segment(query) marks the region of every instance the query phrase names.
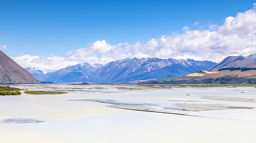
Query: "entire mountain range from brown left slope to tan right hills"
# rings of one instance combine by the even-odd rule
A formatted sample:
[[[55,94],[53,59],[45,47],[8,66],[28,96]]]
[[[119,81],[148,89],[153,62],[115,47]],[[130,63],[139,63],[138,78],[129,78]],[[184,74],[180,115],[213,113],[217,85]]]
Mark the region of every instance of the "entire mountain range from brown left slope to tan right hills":
[[[35,79],[35,77],[37,79]],[[164,79],[162,79],[164,78]],[[159,79],[159,80],[150,80]],[[256,83],[256,54],[229,56],[221,63],[173,58],[127,58],[82,63],[60,70],[23,69],[0,51],[0,83]]]

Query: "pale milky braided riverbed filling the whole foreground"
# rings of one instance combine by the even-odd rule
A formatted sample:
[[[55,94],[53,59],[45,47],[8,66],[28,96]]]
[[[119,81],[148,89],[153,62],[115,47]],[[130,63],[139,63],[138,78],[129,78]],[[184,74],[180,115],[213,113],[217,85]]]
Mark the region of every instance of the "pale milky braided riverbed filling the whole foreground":
[[[256,88],[11,86],[68,94],[0,97],[0,142],[256,142]]]

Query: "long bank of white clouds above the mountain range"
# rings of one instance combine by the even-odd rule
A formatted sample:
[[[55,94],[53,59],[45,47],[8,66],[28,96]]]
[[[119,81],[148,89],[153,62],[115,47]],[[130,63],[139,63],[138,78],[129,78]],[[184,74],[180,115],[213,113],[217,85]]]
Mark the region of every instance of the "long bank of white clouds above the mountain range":
[[[219,62],[228,55],[249,55],[256,53],[256,3],[254,8],[236,17],[225,18],[224,24],[210,24],[207,30],[191,30],[183,27],[183,33],[162,35],[150,41],[119,43],[110,45],[105,39],[96,41],[87,48],[68,51],[64,56],[49,57],[17,55],[14,61],[23,67],[61,69],[78,63],[105,64],[124,58],[158,57]],[[194,23],[194,26],[199,25]],[[0,46],[4,48],[4,46]],[[5,47],[6,48],[6,47]]]

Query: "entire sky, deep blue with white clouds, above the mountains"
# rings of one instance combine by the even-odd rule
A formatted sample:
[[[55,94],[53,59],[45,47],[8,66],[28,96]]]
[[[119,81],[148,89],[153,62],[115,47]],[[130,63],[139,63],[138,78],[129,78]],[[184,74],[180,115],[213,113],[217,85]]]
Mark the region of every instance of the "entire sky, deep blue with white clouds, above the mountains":
[[[0,0],[0,20],[0,49],[22,67],[256,53],[252,0]]]

